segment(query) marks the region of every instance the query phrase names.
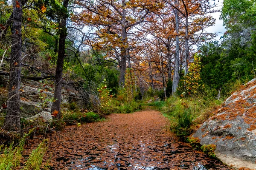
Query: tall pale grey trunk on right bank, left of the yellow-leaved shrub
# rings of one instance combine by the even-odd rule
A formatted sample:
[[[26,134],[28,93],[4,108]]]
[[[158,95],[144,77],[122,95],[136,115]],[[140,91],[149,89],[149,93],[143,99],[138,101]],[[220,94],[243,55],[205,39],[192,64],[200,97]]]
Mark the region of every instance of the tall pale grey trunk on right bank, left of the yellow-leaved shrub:
[[[178,6],[177,0],[175,0],[175,6]],[[175,66],[172,82],[172,95],[175,95],[177,87],[180,81],[179,65],[180,65],[180,42],[179,42],[179,15],[177,9],[173,9],[175,14],[175,26],[176,26],[176,50],[175,50]]]

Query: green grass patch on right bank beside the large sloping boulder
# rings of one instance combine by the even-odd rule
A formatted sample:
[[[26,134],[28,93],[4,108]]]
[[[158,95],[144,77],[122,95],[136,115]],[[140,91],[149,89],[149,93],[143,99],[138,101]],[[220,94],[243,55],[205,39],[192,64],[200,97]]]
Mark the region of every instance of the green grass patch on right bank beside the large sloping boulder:
[[[151,102],[169,118],[170,129],[181,140],[185,140],[195,129],[195,126],[205,122],[212,111],[224,101],[224,97],[217,99],[218,91],[206,88],[197,95],[180,97],[171,96],[166,101]]]

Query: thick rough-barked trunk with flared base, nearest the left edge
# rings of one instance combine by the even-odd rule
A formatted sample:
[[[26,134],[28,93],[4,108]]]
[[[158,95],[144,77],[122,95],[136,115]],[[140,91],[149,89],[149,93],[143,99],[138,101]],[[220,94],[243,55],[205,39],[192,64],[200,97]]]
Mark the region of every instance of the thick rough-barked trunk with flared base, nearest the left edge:
[[[3,129],[12,131],[20,129],[20,67],[21,67],[21,0],[12,0],[12,49],[10,62],[7,113]]]

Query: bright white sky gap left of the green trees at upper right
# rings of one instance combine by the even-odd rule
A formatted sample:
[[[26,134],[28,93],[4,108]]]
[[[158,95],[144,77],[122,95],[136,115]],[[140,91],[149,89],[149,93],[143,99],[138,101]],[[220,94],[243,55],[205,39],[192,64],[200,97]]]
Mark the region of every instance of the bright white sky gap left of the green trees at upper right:
[[[218,0],[217,9],[221,9],[222,5],[223,5],[223,0]],[[215,12],[215,13],[212,13],[211,15],[216,19],[216,23],[215,23],[215,26],[211,26],[207,28],[206,31],[209,33],[222,32],[222,34],[218,34],[218,36],[215,37],[215,40],[220,40],[220,37],[223,36],[223,33],[226,31],[226,29],[223,26],[223,21],[219,19],[221,13]]]

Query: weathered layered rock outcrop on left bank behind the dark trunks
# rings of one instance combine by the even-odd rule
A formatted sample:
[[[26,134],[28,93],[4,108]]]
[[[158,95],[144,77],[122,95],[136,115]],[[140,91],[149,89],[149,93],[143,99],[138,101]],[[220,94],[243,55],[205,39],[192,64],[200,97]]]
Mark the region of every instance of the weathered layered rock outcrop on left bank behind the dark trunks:
[[[0,76],[0,85],[6,86],[8,76]],[[77,87],[79,88],[79,87]],[[25,118],[34,116],[41,112],[50,112],[54,95],[54,81],[37,82],[33,80],[23,79],[20,86],[20,108],[22,116]],[[76,89],[74,86],[64,84],[61,90],[61,105],[63,109],[87,108],[90,105],[89,99],[93,96],[82,90]],[[0,105],[6,102],[7,90],[3,88],[0,94]],[[87,95],[87,96],[86,96]],[[72,108],[73,107],[73,108]]]

